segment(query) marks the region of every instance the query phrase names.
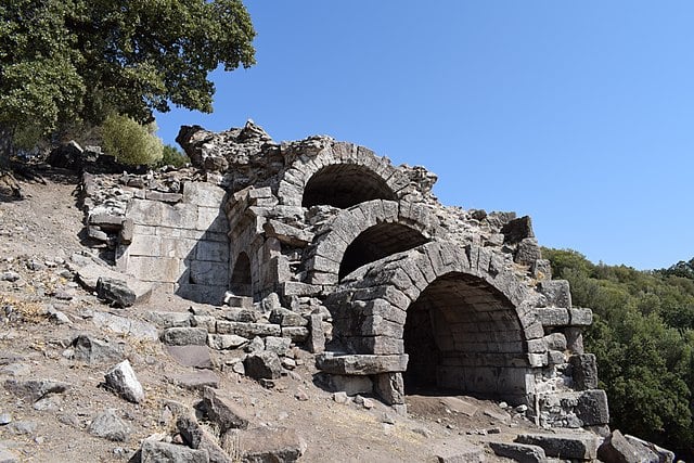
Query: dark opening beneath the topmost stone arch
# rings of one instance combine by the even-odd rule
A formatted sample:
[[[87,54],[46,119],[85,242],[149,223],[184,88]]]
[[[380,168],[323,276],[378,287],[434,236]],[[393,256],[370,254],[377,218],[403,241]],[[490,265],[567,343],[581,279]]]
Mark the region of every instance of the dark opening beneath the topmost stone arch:
[[[383,178],[367,167],[333,164],[317,171],[304,188],[301,206],[327,205],[346,209],[371,200],[395,200]]]

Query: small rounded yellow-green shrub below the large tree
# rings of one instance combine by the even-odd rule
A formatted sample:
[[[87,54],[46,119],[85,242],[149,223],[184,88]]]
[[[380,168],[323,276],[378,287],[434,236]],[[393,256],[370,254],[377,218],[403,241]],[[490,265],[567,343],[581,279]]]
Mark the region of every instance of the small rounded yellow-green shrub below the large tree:
[[[162,158],[164,150],[155,130],[154,123],[142,126],[130,117],[110,115],[102,126],[104,151],[123,164],[152,166]]]

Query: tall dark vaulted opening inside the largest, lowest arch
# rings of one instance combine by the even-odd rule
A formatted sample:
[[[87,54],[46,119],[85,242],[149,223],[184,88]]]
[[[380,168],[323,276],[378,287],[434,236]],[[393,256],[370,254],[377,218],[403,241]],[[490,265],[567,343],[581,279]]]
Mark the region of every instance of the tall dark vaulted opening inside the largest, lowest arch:
[[[524,333],[515,309],[476,276],[435,280],[409,308],[407,394],[457,390],[510,400],[525,394]]]

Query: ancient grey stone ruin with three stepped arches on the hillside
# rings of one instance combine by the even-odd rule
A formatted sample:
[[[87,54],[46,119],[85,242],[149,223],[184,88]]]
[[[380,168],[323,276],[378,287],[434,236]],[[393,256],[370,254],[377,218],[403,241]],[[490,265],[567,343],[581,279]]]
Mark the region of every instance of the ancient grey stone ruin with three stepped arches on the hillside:
[[[583,352],[592,312],[551,279],[530,218],[442,206],[426,169],[329,137],[275,143],[248,123],[178,141],[197,169],[86,176],[89,235],[160,291],[256,312],[210,336],[287,338],[326,387],[401,411],[427,390],[525,404],[544,426],[608,423]]]

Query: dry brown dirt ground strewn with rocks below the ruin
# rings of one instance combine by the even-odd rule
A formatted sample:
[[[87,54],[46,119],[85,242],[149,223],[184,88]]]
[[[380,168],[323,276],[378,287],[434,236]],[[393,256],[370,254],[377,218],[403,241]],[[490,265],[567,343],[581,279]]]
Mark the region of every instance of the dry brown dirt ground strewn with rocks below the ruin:
[[[46,171],[47,184],[23,183],[25,198],[0,197],[0,445],[26,462],[128,461],[140,441],[155,433],[170,433],[163,402],[192,406],[201,393],[176,385],[177,375],[195,373],[169,357],[159,342],[142,342],[99,329],[95,312],[114,312],[133,320],[150,310],[187,310],[189,301],[155,295],[146,305],[112,309],[74,281],[75,254],[93,253],[82,246],[83,216],[77,204],[77,177]],[[10,272],[10,273],[8,273]],[[200,305],[196,305],[200,306]],[[69,323],[56,322],[49,309]],[[144,386],[140,404],[123,400],[103,387],[113,364],[89,365],[70,358],[72,340],[88,334],[121,343],[125,357]],[[313,384],[312,356],[297,349],[298,363],[272,389],[224,369],[215,351],[219,389],[243,406],[254,426],[295,428],[307,443],[307,462],[426,462],[464,445],[484,446],[512,440],[534,429],[522,413],[499,403],[468,397],[412,395],[408,416],[377,400],[365,409],[354,401],[338,403]],[[50,378],[69,383],[40,407],[2,387],[7,381]],[[503,406],[503,404],[502,404]],[[93,436],[88,427],[105,409],[115,409],[130,427],[125,441]],[[2,416],[5,420],[2,420]],[[505,461],[486,450],[487,461]]]

